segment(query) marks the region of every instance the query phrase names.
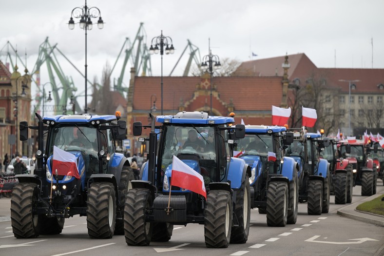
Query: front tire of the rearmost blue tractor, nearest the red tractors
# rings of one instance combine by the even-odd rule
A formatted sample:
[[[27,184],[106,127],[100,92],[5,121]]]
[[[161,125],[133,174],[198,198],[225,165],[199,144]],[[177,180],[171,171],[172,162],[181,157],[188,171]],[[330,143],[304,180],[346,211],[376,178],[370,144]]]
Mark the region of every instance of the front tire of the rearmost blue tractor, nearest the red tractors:
[[[323,182],[317,179],[308,180],[308,215],[321,215],[323,210],[323,195]]]

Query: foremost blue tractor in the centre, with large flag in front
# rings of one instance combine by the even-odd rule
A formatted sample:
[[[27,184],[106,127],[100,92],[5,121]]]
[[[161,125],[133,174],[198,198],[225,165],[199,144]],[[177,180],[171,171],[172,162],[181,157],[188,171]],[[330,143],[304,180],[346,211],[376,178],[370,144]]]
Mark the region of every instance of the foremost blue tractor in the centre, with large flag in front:
[[[140,136],[143,127],[151,133],[149,138],[139,138],[149,140],[148,161],[141,167],[141,180],[132,181],[125,201],[127,244],[168,241],[174,224],[187,223],[204,225],[207,247],[245,243],[250,229],[250,166],[231,155],[234,139],[245,136],[244,125],[234,128],[233,117],[205,112],[158,116],[160,126],[150,117],[151,125],[133,124],[134,136]],[[201,175],[206,198],[172,186],[173,156]]]

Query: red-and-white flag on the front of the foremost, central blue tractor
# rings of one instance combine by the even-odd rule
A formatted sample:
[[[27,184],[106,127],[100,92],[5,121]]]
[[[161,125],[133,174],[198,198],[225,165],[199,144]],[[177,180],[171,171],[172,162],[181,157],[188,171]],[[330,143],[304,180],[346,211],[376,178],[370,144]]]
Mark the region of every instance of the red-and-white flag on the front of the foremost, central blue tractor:
[[[191,190],[207,199],[204,179],[199,173],[173,155],[171,186]]]

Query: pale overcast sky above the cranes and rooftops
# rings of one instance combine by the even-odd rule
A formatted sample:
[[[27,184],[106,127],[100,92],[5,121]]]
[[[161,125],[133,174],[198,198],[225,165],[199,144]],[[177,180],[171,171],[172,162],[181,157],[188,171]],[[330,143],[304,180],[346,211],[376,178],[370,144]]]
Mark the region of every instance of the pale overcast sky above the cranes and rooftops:
[[[84,0],[0,0],[0,59],[9,41],[18,48],[31,71],[38,58],[38,47],[49,37],[80,71],[84,71],[85,34],[76,25],[68,29],[75,7]],[[220,59],[239,61],[265,59],[305,53],[317,67],[384,68],[383,0],[88,0],[96,6],[105,22],[104,29],[88,32],[88,77],[101,79],[108,62],[113,65],[126,38],[134,39],[140,22],[144,23],[147,45],[163,35],[173,39],[174,55],[164,55],[164,75],[168,75],[187,39],[200,50]],[[76,20],[78,21],[78,20]],[[96,20],[95,20],[96,22]],[[373,39],[373,47],[372,47]],[[372,55],[373,49],[373,55]],[[12,53],[13,54],[13,53]],[[189,51],[187,51],[189,55]],[[186,55],[188,58],[188,55]],[[122,55],[112,75],[121,71]],[[182,75],[187,59],[180,61],[173,75]],[[152,73],[160,76],[160,56],[151,56]],[[66,76],[83,87],[81,77],[63,58],[59,64]],[[19,65],[20,66],[20,65]],[[128,65],[129,67],[131,65]],[[124,83],[129,84],[129,67]],[[41,83],[49,81],[41,70]],[[34,93],[33,93],[34,95]]]

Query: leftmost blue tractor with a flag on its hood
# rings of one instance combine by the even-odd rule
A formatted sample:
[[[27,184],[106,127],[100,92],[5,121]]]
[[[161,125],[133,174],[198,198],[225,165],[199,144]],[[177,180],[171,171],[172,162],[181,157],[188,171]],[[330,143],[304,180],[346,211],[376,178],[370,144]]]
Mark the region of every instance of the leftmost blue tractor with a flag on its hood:
[[[118,112],[36,117],[37,126],[20,122],[20,140],[28,138],[28,129],[38,131],[38,150],[34,173],[17,175],[12,192],[15,237],[60,234],[65,218],[74,215],[87,217],[91,238],[123,235],[125,195],[134,174],[127,158],[115,152],[115,140],[125,138],[126,122]],[[67,164],[68,170],[77,162],[78,173],[53,170],[54,161]]]

